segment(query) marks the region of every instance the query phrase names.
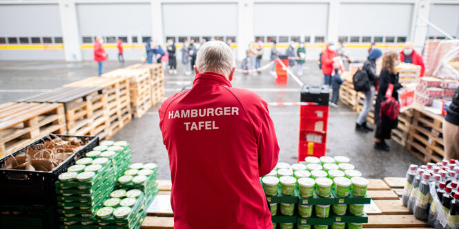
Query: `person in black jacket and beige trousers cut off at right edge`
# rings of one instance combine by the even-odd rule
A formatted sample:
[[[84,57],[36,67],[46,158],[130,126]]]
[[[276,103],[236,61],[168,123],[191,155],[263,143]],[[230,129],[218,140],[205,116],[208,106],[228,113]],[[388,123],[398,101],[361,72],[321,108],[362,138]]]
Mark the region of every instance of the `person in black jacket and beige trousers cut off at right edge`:
[[[459,159],[459,88],[447,110],[443,121],[443,139],[445,140],[445,160]]]

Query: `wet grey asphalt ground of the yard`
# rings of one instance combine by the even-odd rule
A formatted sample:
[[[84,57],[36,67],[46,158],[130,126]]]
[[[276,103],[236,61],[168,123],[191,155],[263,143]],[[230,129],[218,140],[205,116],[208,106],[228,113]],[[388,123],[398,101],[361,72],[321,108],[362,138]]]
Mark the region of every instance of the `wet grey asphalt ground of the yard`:
[[[108,61],[105,70],[114,70],[129,66],[136,62],[126,62],[124,65]],[[266,62],[267,63],[267,62]],[[266,63],[262,63],[266,64]],[[179,63],[177,75],[165,72],[166,97],[178,92],[184,86],[193,83],[194,76],[185,76]],[[296,66],[293,68],[296,74]],[[0,62],[0,103],[14,101],[39,92],[57,88],[65,83],[95,76],[97,64],[94,62]],[[304,74],[298,77],[302,82],[318,85],[323,81],[315,61],[306,63]],[[300,101],[300,86],[289,78],[286,86],[277,86],[274,77],[264,70],[262,74],[237,73],[233,86],[255,90],[268,103]],[[120,130],[114,140],[126,140],[131,145],[133,162],[155,162],[159,165],[159,179],[170,179],[168,155],[162,143],[159,130],[159,105],[151,108],[141,119],[133,119],[128,126]],[[277,139],[280,145],[280,161],[295,163],[297,161],[297,145],[300,125],[299,106],[269,106],[275,125]],[[358,113],[343,103],[338,108],[330,108],[329,126],[327,133],[327,155],[344,155],[351,159],[356,170],[364,177],[403,177],[409,164],[420,164],[421,161],[411,155],[395,141],[387,143],[390,152],[373,150],[373,133],[355,132],[355,119]]]

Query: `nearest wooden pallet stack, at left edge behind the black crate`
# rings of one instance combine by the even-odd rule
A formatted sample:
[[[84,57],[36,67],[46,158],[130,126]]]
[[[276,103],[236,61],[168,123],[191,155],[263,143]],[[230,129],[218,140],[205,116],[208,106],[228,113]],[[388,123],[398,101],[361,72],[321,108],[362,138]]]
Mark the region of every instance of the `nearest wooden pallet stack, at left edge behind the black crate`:
[[[0,105],[0,157],[50,133],[67,133],[61,103],[10,102]]]

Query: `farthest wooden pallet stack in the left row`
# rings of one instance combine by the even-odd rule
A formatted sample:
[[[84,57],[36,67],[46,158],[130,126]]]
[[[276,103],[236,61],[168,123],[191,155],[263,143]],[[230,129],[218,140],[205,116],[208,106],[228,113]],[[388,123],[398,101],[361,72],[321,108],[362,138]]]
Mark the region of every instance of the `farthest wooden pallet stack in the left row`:
[[[148,68],[151,75],[151,103],[153,106],[164,97],[164,70],[160,63],[137,63],[130,69]]]

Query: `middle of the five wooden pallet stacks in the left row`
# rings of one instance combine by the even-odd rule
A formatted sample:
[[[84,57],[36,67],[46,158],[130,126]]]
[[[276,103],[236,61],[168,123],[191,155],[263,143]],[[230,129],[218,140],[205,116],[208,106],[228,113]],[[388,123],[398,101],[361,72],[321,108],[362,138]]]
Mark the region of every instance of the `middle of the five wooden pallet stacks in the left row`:
[[[126,126],[132,119],[130,113],[130,94],[129,80],[126,77],[105,78],[90,77],[64,87],[84,87],[84,86],[104,87],[102,90],[107,95],[107,110],[109,117],[109,127],[107,138],[113,137],[121,128]]]

